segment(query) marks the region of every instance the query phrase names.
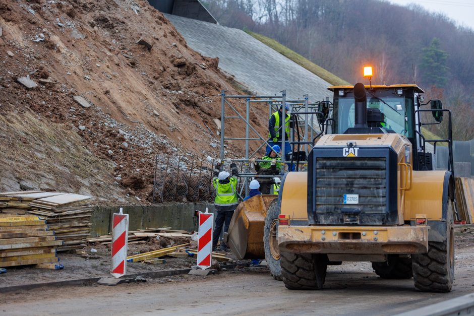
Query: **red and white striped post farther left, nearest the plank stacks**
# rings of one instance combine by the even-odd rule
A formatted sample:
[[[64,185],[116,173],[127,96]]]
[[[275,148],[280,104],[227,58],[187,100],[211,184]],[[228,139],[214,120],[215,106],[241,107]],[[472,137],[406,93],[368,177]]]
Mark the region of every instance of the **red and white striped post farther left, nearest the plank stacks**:
[[[112,271],[110,274],[120,278],[127,273],[127,245],[129,239],[129,215],[122,212],[112,215]]]

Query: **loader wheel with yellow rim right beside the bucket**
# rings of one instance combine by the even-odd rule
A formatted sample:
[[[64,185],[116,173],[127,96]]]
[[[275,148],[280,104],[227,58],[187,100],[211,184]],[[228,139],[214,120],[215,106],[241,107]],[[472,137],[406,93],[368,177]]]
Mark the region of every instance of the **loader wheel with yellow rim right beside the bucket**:
[[[278,207],[278,199],[273,200],[267,210],[265,217],[265,226],[263,228],[263,246],[265,249],[265,260],[271,275],[277,281],[281,281],[280,267],[280,250],[276,233],[278,231],[278,215],[280,208]]]

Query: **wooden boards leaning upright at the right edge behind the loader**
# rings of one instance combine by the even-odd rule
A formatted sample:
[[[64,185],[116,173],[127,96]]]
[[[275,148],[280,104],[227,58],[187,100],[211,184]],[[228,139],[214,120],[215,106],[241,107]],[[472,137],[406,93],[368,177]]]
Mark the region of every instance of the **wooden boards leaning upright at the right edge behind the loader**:
[[[458,220],[473,224],[474,218],[474,179],[455,178]]]

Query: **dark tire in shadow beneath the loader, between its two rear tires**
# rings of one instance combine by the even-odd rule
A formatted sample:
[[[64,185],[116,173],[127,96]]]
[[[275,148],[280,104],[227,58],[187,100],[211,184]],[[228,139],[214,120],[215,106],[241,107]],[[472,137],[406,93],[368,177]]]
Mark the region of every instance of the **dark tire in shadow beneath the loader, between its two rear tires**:
[[[409,279],[413,277],[411,258],[388,255],[385,262],[373,262],[372,269],[382,279]]]

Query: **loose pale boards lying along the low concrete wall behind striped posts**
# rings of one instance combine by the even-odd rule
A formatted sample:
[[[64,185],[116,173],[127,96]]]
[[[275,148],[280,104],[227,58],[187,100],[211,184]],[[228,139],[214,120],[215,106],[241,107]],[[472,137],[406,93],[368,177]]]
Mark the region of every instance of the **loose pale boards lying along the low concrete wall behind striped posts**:
[[[139,229],[134,231],[129,231],[129,244],[145,242],[148,237],[166,237],[166,238],[175,238],[175,237],[192,237],[193,235],[186,230],[175,230],[171,227],[162,227],[162,228],[147,228]],[[87,242],[100,242],[103,244],[112,242],[112,233],[108,235],[103,235],[95,238],[88,238]]]

